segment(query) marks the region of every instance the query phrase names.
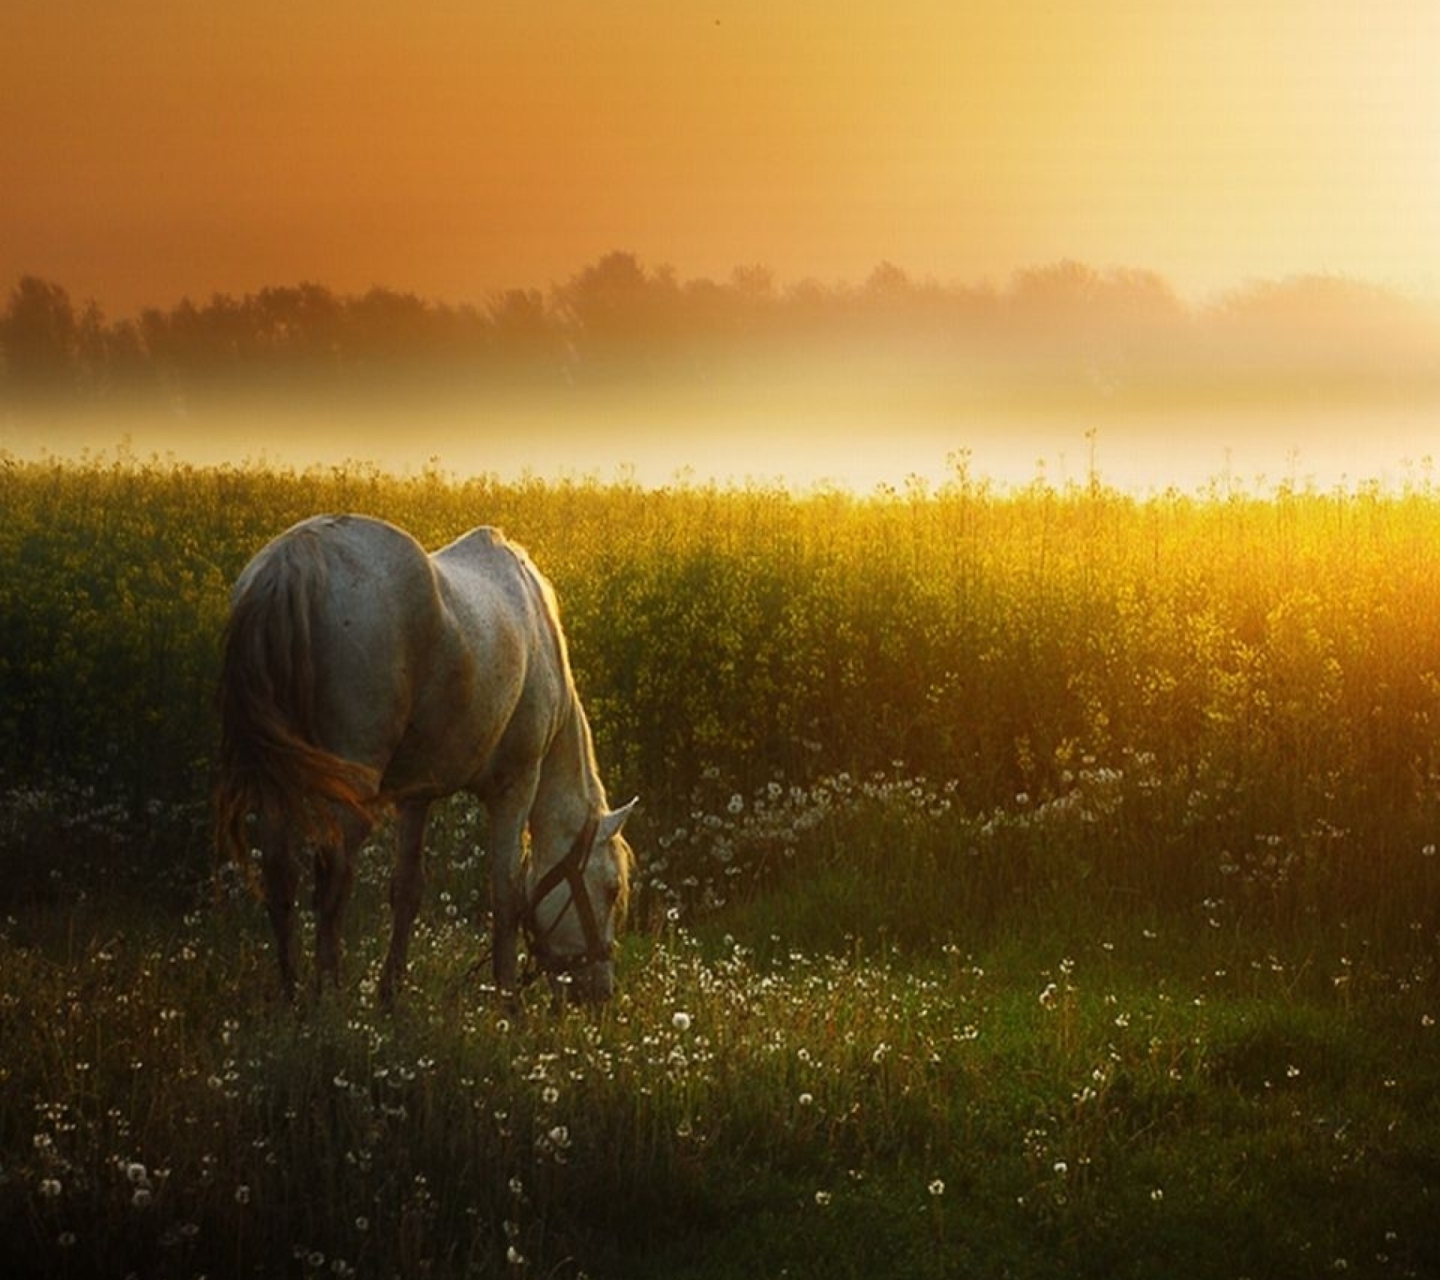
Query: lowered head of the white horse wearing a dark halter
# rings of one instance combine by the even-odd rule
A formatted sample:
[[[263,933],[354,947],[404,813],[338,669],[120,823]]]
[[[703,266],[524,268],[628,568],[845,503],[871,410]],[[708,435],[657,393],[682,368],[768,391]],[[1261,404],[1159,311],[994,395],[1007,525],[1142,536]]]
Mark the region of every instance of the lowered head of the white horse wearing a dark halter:
[[[634,857],[621,828],[635,803],[596,815],[563,857],[531,870],[530,950],[540,972],[573,999],[606,1001],[615,992],[615,933],[625,919]]]

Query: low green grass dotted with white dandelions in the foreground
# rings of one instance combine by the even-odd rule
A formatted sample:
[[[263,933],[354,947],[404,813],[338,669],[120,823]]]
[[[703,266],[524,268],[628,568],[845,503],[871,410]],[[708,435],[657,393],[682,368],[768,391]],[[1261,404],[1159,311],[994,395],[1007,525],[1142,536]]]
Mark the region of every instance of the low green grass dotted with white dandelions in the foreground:
[[[438,860],[415,983],[274,999],[258,907],[86,896],[0,936],[20,1273],[1320,1276],[1440,1266],[1433,949],[1089,890],[916,932],[933,849],[834,818],[600,1014],[482,992]],[[926,819],[939,844],[946,816]],[[950,834],[955,824],[952,822]],[[923,844],[923,842],[922,842]],[[851,874],[828,864],[840,849]],[[815,864],[811,878],[805,870]],[[744,900],[742,900],[744,898]],[[844,907],[828,936],[827,903]],[[448,909],[456,907],[454,913]],[[838,927],[838,926],[837,926]],[[144,1166],[140,1172],[138,1166]]]

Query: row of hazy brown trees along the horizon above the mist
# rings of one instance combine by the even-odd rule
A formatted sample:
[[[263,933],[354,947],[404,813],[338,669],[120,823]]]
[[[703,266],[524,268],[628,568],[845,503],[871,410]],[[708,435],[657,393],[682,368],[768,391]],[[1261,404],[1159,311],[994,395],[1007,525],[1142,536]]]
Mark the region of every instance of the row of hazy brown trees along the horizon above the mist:
[[[782,285],[763,266],[681,279],[613,252],[547,291],[451,305],[320,284],[189,298],[111,320],[22,276],[0,312],[0,399],[203,399],[408,377],[557,386],[707,380],[757,356],[876,359],[978,393],[1174,397],[1440,390],[1440,317],[1335,275],[1184,301],[1159,274],[1063,261],[1004,285],[940,284],[883,262],[860,285]]]

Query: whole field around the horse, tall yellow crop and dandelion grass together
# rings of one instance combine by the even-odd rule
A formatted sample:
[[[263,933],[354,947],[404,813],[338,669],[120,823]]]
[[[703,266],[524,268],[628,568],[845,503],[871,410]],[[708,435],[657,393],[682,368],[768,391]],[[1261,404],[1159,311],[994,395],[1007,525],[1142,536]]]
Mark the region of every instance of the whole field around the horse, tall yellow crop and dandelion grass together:
[[[226,595],[323,510],[503,526],[612,798],[621,995],[276,999],[209,837]],[[1440,1274],[1440,490],[955,459],[842,492],[0,458],[6,1276]]]

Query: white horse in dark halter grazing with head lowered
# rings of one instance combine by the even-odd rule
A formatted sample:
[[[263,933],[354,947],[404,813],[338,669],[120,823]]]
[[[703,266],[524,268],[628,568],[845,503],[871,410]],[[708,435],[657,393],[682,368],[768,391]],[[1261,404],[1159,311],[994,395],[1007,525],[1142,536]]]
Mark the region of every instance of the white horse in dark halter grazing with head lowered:
[[[426,816],[455,792],[490,818],[495,986],[518,991],[523,933],[536,969],[573,998],[613,993],[634,861],[621,832],[636,802],[606,802],[554,590],[503,533],[475,528],[428,554],[366,515],[285,530],[232,589],[217,704],[217,841],[242,867],[252,838],[259,849],[291,1001],[304,854],[320,991],[327,976],[340,983],[360,845],[395,811],[379,983],[390,1004],[420,904]]]

